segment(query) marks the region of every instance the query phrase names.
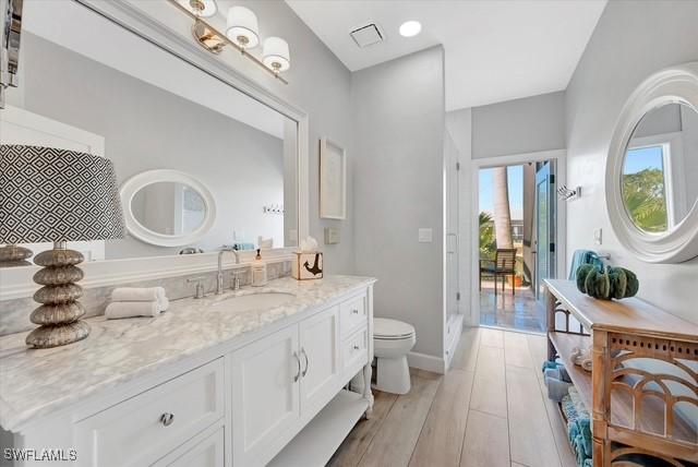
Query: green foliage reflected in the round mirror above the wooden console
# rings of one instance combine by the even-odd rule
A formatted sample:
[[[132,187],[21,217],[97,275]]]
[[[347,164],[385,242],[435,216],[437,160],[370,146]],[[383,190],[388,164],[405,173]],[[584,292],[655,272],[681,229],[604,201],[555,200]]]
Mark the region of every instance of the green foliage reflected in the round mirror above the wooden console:
[[[661,169],[624,175],[623,201],[638,228],[647,232],[666,231],[666,197]]]

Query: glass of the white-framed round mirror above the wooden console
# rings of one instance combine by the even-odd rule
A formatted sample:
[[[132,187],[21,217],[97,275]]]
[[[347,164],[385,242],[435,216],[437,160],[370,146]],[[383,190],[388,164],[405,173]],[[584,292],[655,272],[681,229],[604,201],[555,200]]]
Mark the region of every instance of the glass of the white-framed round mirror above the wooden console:
[[[622,192],[635,226],[672,231],[698,199],[698,112],[671,103],[647,112],[625,151]]]

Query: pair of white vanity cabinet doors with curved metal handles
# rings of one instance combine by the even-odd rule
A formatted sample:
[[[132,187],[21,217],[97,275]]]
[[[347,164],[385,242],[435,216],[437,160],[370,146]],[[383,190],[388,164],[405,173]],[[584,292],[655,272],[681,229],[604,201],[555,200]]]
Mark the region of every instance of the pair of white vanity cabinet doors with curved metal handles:
[[[296,434],[289,427],[333,399],[346,384],[340,354],[339,306],[233,352],[233,465],[266,465]]]

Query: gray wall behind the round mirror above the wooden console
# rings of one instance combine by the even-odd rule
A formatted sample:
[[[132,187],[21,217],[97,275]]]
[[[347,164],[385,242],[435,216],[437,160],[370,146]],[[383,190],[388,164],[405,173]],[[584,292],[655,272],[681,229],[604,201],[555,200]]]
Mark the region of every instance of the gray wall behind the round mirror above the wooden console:
[[[609,2],[565,95],[567,181],[583,188],[583,196],[567,206],[567,251],[609,251],[612,263],[638,274],[641,298],[693,322],[698,322],[698,259],[674,265],[635,259],[613,234],[603,180],[625,100],[655,71],[698,60],[697,24],[696,1]],[[593,244],[594,228],[603,229],[601,247]]]

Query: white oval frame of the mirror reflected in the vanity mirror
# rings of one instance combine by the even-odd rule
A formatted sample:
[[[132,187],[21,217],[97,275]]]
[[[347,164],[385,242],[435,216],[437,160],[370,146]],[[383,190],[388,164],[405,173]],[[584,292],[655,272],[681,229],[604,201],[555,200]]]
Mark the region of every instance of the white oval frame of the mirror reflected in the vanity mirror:
[[[135,196],[135,194],[145,187],[160,182],[184,184],[194,189],[204,200],[206,214],[204,216],[204,221],[196,230],[181,235],[160,234],[151,230],[135,218],[133,211],[131,209],[133,196]],[[216,221],[216,201],[214,200],[210,191],[208,191],[206,185],[195,178],[179,170],[158,169],[136,173],[121,185],[119,194],[121,195],[123,218],[127,221],[127,229],[129,229],[129,234],[146,243],[156,244],[158,247],[184,247],[192,244],[206,235]]]

